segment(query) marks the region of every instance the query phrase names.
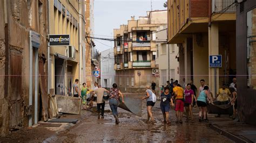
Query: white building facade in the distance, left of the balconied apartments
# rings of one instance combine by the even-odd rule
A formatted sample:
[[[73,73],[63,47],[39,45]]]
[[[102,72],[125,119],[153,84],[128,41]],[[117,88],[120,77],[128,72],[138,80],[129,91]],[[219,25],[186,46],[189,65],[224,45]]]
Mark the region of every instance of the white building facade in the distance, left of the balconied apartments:
[[[103,88],[112,88],[115,82],[116,70],[114,69],[114,49],[100,52],[100,85]]]

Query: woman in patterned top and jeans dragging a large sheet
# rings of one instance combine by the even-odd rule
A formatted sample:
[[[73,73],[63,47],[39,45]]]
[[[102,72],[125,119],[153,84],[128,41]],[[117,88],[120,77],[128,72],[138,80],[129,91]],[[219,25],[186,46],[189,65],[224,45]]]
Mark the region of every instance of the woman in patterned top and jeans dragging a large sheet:
[[[122,102],[124,103],[124,96],[120,90],[117,89],[117,84],[114,83],[112,85],[113,88],[110,90],[110,99],[109,105],[110,109],[113,113],[114,118],[116,119],[116,124],[119,124],[118,113],[117,113],[117,106],[119,102],[119,95],[122,97]]]

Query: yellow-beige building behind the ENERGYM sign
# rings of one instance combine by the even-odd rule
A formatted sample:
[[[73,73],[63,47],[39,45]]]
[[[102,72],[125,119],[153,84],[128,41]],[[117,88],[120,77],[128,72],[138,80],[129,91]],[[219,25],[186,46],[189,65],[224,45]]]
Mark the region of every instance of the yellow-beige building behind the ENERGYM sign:
[[[76,79],[79,85],[85,82],[84,6],[84,1],[49,1],[49,34],[70,35],[70,46],[49,47],[49,89],[55,89],[57,95],[73,93]]]

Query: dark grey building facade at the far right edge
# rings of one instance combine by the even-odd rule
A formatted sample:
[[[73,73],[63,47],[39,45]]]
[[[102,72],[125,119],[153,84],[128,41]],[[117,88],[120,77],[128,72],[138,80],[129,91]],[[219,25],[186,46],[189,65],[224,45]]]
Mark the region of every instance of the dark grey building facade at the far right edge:
[[[237,87],[241,121],[256,125],[256,1],[237,5]],[[246,76],[245,76],[246,75]]]

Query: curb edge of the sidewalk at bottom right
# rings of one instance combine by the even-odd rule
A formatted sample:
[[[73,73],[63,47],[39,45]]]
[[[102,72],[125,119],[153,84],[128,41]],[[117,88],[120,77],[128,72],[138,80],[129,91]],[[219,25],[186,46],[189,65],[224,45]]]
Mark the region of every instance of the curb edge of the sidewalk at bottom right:
[[[221,134],[221,135],[224,135],[225,137],[227,137],[228,139],[231,139],[231,140],[234,141],[234,142],[251,142],[251,141],[247,141],[247,140],[245,140],[245,139],[239,138],[237,135],[234,135],[234,134],[232,134],[232,133],[230,133],[230,132],[227,132],[227,131],[225,131],[225,130],[219,128],[219,127],[216,126],[216,125],[212,125],[211,123],[209,123],[208,126],[209,126],[210,128],[212,128],[212,130],[218,132],[218,133]]]

